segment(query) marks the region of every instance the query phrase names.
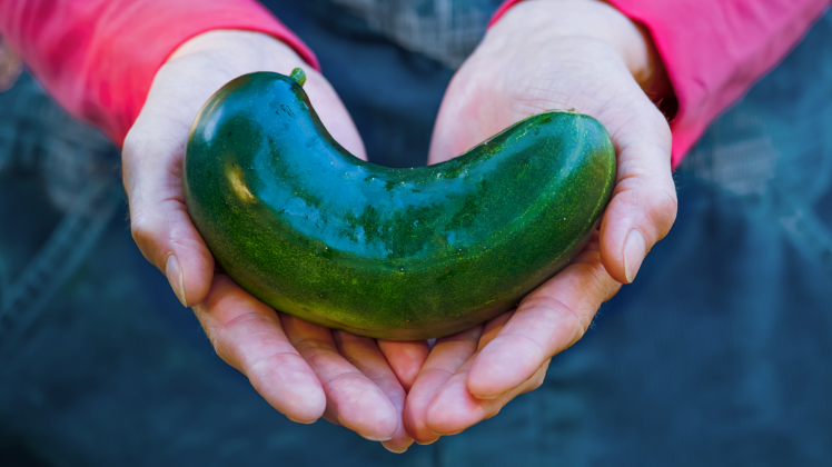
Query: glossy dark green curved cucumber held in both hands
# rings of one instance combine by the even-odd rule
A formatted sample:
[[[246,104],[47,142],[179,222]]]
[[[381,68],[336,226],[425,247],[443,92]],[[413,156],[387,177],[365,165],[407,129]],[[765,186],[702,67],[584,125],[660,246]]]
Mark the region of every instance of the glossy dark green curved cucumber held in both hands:
[[[616,159],[592,117],[532,116],[449,161],[390,169],[329,136],[283,74],[239,77],[190,131],[190,217],[245,290],[307,321],[442,337],[515,307],[583,249]]]

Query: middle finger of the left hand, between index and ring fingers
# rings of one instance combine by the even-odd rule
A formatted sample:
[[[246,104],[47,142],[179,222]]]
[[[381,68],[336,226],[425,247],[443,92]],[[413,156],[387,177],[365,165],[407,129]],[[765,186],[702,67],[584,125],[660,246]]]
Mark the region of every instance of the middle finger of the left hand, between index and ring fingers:
[[[326,394],[326,418],[367,439],[393,439],[399,425],[396,408],[379,386],[338,352],[333,332],[288,315],[279,316],[289,341],[318,376]],[[367,368],[377,371],[378,365],[368,364]]]

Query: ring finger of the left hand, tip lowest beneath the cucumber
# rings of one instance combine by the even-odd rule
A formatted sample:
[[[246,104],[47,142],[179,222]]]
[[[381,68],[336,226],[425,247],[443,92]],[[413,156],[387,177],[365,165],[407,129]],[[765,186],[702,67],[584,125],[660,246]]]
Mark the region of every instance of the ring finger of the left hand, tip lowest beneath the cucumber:
[[[375,382],[396,409],[398,428],[393,438],[382,441],[382,445],[394,453],[406,451],[413,444],[413,438],[405,431],[405,425],[402,421],[402,413],[405,408],[405,389],[387,365],[387,360],[375,339],[340,330],[333,331],[333,337],[340,355]]]

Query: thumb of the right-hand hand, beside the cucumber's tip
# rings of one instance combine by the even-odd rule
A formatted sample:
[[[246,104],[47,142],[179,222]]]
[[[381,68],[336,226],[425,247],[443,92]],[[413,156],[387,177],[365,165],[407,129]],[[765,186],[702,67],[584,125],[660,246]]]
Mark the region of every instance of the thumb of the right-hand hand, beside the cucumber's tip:
[[[676,188],[671,171],[671,136],[652,105],[638,106],[616,128],[617,185],[601,223],[601,255],[615,280],[635,279],[645,255],[676,219]]]

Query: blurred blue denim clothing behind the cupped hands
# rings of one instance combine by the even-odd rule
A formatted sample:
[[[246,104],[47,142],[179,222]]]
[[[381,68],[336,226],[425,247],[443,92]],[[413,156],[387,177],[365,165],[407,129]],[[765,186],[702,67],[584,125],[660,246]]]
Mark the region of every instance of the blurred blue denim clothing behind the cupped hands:
[[[424,163],[449,61],[309,4],[269,6],[370,158]],[[543,387],[396,456],[216,357],[130,238],[115,148],[23,77],[0,93],[0,465],[832,465],[831,90],[826,14],[711,125],[673,230]]]

